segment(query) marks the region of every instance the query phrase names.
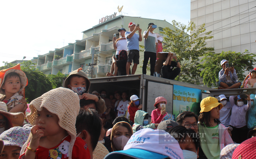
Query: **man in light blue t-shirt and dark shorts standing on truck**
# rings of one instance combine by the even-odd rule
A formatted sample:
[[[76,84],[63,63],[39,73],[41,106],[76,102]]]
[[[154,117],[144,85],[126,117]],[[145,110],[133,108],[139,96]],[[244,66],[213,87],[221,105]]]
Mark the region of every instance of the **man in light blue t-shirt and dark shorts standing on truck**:
[[[137,69],[137,65],[139,64],[139,42],[142,41],[141,29],[139,28],[139,24],[135,25],[134,22],[130,22],[129,31],[125,32],[125,37],[127,40],[127,63],[126,63],[126,74],[129,74],[130,65],[132,64],[132,60],[134,61],[134,65],[132,67],[132,74],[135,74]],[[139,31],[139,34],[135,33]]]

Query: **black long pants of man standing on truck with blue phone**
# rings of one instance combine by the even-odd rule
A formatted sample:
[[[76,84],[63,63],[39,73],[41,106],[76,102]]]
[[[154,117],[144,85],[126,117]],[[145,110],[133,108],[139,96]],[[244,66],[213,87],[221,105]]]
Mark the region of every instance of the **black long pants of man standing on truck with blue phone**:
[[[142,67],[142,73],[147,74],[148,59],[150,58],[150,76],[154,76],[155,65],[156,65],[156,53],[155,52],[144,52],[144,61]]]

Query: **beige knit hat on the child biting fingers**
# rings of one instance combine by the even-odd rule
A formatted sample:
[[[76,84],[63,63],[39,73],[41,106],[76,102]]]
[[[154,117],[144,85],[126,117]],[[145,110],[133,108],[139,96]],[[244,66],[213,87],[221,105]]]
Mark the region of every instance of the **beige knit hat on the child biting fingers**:
[[[76,116],[80,109],[79,97],[70,89],[59,87],[46,92],[41,97],[34,99],[29,108],[31,112],[27,115],[28,121],[33,125],[36,117],[37,110],[41,111],[46,108],[49,112],[56,114],[59,117],[59,126],[67,130],[71,136],[69,145],[69,159],[72,157],[72,148],[76,140]],[[27,142],[23,145],[21,154],[24,152],[26,146],[30,142],[30,136]]]

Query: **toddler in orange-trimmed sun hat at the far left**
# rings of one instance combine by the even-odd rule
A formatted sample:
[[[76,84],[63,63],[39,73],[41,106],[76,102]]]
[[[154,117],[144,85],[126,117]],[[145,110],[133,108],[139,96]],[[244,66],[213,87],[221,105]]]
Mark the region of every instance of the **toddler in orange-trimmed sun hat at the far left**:
[[[0,101],[6,103],[8,112],[25,112],[27,105],[21,102],[28,85],[26,74],[20,70],[20,64],[0,70]]]

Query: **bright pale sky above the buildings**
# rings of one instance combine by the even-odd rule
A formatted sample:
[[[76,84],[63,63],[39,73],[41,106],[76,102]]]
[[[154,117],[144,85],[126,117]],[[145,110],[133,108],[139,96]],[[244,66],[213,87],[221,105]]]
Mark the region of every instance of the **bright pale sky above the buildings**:
[[[82,31],[124,6],[125,16],[141,16],[188,24],[190,0],[5,0],[0,3],[2,61],[31,60],[82,40]]]

